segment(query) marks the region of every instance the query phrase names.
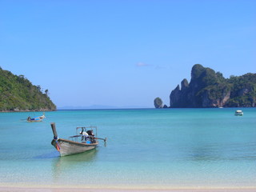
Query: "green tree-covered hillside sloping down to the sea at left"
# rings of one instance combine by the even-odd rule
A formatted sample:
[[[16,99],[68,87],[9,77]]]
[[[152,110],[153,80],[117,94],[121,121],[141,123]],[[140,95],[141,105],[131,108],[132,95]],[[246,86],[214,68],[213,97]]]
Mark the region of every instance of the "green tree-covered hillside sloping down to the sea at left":
[[[24,75],[14,75],[0,67],[0,111],[56,110],[40,86],[34,86]]]

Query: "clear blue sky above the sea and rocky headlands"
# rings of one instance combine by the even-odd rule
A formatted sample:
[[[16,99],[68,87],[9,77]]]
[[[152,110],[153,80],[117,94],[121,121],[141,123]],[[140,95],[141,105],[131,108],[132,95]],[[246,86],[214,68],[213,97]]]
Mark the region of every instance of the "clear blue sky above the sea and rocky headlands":
[[[58,106],[169,106],[196,63],[255,73],[255,0],[0,0],[0,66]]]

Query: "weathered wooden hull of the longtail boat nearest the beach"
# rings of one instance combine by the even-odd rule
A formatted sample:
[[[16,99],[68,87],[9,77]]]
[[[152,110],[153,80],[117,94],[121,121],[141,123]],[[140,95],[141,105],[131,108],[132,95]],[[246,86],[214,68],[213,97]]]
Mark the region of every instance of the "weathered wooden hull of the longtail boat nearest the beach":
[[[93,150],[98,146],[98,142],[86,143],[86,142],[73,142],[67,139],[58,138],[53,140],[51,144],[58,150],[60,156],[66,156],[69,154],[79,154],[86,150]]]

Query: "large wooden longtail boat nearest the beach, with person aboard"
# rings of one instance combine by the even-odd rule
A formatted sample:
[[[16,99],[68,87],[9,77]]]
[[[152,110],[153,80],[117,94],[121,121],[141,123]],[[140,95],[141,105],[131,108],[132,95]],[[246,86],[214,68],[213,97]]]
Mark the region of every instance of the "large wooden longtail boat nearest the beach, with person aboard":
[[[97,126],[77,127],[76,135],[70,136],[70,139],[58,138],[55,123],[51,123],[50,126],[54,133],[54,139],[51,145],[58,150],[60,156],[79,154],[86,150],[93,150],[98,146],[98,139],[106,142],[106,138],[97,138]]]

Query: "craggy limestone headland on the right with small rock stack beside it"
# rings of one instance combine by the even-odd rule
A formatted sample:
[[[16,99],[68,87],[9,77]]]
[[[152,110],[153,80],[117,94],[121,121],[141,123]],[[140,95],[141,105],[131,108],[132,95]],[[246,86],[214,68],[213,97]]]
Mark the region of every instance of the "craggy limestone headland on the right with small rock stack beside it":
[[[224,78],[220,72],[196,64],[191,79],[182,80],[170,93],[172,108],[254,107],[256,102],[256,74]],[[155,108],[167,108],[161,98],[154,99]]]

